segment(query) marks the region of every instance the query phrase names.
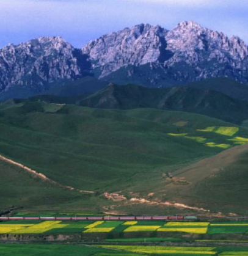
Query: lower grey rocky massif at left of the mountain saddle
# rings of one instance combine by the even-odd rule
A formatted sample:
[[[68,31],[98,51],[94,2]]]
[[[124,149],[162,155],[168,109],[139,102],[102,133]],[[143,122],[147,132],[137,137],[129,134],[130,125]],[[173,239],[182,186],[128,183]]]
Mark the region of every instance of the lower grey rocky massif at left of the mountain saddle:
[[[82,76],[77,50],[60,37],[42,37],[0,49],[0,90]]]

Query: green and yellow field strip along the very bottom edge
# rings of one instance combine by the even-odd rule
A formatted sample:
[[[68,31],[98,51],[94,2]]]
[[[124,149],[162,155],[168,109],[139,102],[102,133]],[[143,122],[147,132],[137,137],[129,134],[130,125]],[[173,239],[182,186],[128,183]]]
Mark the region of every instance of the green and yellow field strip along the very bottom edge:
[[[247,248],[172,246],[84,246],[77,244],[0,244],[1,256],[247,256]]]

